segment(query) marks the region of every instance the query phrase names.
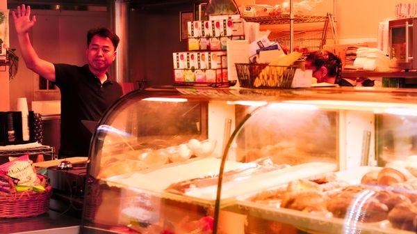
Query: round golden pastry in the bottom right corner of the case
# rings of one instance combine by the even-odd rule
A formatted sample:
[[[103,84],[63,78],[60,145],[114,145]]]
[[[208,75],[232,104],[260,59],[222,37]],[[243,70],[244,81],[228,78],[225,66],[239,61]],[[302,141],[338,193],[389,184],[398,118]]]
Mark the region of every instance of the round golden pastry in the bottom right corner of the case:
[[[395,228],[400,228],[407,231],[417,231],[416,219],[417,206],[409,202],[402,202],[395,205],[393,210],[388,214],[388,220]]]

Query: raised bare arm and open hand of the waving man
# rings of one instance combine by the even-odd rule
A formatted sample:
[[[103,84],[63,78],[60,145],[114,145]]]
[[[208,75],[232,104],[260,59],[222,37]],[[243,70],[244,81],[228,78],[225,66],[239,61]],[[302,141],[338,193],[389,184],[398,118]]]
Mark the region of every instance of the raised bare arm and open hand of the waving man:
[[[15,20],[15,28],[17,32],[17,38],[19,40],[20,49],[22,50],[22,57],[26,67],[38,73],[41,77],[48,79],[49,81],[55,81],[55,67],[54,64],[40,59],[33,49],[31,40],[29,39],[28,31],[33,27],[36,22],[36,17],[31,17],[31,7],[25,8],[22,4],[22,8],[17,6],[17,13],[12,12],[13,20]]]

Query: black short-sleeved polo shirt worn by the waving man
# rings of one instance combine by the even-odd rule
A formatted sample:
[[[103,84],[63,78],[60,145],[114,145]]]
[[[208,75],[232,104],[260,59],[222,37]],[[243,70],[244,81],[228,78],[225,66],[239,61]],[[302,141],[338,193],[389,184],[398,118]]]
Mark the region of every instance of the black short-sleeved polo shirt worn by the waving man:
[[[88,65],[54,64],[61,93],[59,157],[87,156],[92,134],[81,120],[98,121],[122,96],[122,87],[107,79],[101,84]],[[110,76],[107,74],[107,77]]]

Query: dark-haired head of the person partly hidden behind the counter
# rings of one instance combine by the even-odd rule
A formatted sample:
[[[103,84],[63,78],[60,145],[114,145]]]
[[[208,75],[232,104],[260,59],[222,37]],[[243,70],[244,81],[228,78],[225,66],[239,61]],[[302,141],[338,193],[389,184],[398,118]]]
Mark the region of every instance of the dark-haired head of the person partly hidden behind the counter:
[[[306,57],[305,67],[313,70],[313,77],[317,78],[318,82],[330,81],[337,84],[341,79],[342,62],[332,52],[312,52]]]

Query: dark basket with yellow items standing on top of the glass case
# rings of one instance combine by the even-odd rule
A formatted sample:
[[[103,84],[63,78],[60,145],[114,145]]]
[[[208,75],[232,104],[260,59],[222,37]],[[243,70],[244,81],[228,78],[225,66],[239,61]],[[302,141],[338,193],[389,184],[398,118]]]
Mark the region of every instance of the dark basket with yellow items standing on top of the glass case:
[[[241,87],[291,88],[296,66],[236,63]]]

